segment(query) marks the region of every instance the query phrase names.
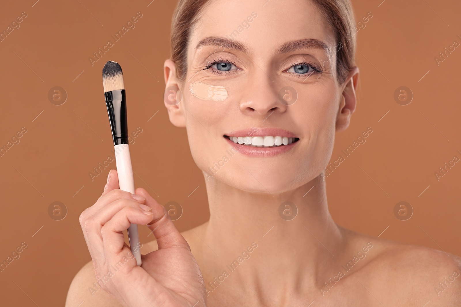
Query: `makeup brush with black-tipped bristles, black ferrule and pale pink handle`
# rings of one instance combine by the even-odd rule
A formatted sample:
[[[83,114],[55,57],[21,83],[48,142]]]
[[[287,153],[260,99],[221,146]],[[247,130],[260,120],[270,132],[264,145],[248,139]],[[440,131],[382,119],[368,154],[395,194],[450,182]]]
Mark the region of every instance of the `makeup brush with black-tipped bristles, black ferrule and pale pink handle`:
[[[107,112],[111,123],[114,141],[115,162],[117,164],[118,185],[120,190],[135,193],[133,169],[131,168],[130,149],[128,148],[128,124],[126,116],[125,87],[122,68],[117,62],[107,61],[102,69],[102,84],[106,97]],[[128,228],[130,249],[135,255],[137,265],[141,265],[138,226],[131,224]]]

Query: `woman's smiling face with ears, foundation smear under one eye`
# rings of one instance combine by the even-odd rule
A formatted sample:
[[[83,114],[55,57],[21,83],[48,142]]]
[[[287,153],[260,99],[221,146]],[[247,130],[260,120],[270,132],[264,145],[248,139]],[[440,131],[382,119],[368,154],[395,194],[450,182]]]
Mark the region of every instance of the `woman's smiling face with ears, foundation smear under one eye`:
[[[323,172],[335,129],[347,127],[354,111],[356,82],[349,76],[338,83],[333,29],[316,6],[263,2],[204,7],[189,38],[184,81],[165,61],[166,87],[183,94],[181,103],[165,105],[171,122],[187,128],[207,181],[274,193]]]

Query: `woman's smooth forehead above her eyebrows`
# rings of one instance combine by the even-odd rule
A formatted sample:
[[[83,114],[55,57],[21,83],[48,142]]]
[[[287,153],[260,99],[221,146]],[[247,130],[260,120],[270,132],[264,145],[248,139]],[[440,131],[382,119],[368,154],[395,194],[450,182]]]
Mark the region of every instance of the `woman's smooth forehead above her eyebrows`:
[[[276,52],[287,41],[314,39],[336,49],[333,29],[310,0],[210,0],[191,33],[189,51],[209,36],[242,42],[249,52]]]

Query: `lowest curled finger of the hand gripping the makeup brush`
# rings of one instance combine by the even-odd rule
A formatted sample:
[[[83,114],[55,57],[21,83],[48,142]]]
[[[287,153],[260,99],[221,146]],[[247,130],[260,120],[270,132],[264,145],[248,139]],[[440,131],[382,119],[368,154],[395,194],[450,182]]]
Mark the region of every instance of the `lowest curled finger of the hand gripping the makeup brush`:
[[[128,229],[132,224],[147,224],[152,220],[152,212],[136,209],[133,207],[124,207],[118,211],[101,228],[102,243],[104,254],[108,261],[118,259],[120,252],[124,248],[125,238],[123,231]],[[134,261],[136,265],[136,261]]]

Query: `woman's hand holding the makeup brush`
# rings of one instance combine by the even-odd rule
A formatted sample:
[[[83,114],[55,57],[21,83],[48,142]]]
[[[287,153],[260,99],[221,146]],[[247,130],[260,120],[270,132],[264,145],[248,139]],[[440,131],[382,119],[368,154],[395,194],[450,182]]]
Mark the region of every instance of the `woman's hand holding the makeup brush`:
[[[130,223],[148,224],[159,249],[142,255],[142,265],[124,242]],[[109,172],[98,201],[80,215],[98,284],[125,307],[206,306],[205,283],[189,244],[149,193],[118,189]]]

